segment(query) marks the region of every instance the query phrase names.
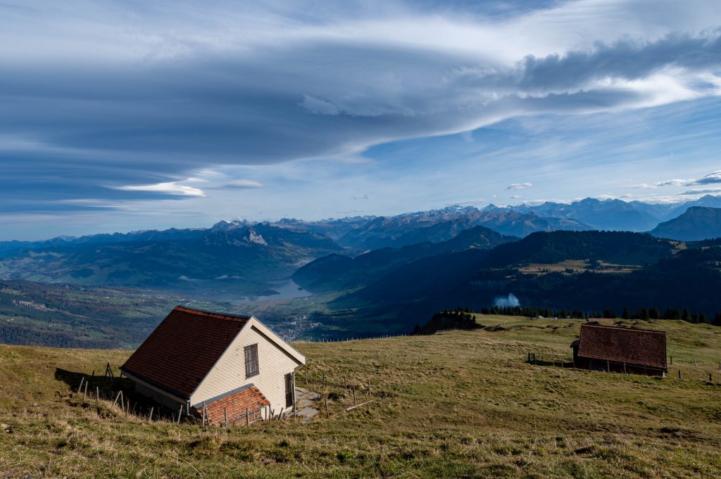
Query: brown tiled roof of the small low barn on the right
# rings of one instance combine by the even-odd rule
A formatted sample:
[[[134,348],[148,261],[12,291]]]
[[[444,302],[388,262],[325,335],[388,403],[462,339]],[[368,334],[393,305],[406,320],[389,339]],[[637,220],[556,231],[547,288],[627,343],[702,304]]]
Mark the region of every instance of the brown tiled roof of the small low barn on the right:
[[[666,333],[582,324],[578,356],[665,370]]]

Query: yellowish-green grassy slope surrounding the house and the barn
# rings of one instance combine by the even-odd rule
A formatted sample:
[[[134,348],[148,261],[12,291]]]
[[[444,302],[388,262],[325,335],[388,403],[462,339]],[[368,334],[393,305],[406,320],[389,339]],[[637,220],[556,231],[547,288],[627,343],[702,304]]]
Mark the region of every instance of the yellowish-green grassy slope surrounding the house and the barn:
[[[667,477],[721,474],[721,328],[634,322],[669,333],[671,377],[525,364],[566,354],[580,321],[506,321],[375,341],[297,344],[301,382],[325,372],[331,413],[371,380],[375,402],[314,424],[229,432],[150,424],[73,397],[56,367],[120,364],[128,352],[0,346],[0,477]],[[694,367],[694,358],[698,365]],[[684,380],[677,380],[681,367]],[[714,382],[707,382],[714,372]],[[57,391],[57,393],[56,393]],[[60,396],[60,397],[59,397]]]

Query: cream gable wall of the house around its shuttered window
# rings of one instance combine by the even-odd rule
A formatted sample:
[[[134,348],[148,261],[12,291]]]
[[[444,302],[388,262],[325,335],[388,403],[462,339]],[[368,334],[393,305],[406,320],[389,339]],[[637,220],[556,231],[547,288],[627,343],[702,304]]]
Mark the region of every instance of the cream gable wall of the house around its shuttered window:
[[[260,374],[245,377],[244,347],[258,345],[258,370]],[[231,343],[226,353],[213,367],[205,380],[190,398],[192,405],[215,398],[229,390],[252,384],[270,401],[275,413],[286,408],[286,374],[293,372],[298,362],[279,345],[270,341],[253,323],[249,323]]]

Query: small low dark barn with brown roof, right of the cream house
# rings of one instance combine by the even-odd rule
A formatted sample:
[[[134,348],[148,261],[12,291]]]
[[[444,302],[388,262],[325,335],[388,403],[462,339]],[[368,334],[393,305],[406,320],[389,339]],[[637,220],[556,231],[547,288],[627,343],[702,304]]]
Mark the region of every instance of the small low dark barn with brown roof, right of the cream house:
[[[668,372],[665,331],[582,324],[571,347],[575,367],[664,377]]]

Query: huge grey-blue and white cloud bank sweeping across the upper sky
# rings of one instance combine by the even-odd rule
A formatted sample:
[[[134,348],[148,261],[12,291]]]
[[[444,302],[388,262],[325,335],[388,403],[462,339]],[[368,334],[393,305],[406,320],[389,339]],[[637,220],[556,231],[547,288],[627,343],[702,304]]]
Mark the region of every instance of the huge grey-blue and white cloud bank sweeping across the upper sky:
[[[223,184],[203,169],[721,92],[715,1],[511,1],[502,17],[467,2],[25,3],[0,4],[0,205],[17,214],[190,202]]]

